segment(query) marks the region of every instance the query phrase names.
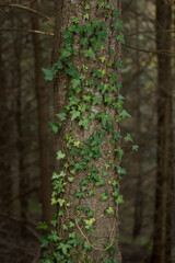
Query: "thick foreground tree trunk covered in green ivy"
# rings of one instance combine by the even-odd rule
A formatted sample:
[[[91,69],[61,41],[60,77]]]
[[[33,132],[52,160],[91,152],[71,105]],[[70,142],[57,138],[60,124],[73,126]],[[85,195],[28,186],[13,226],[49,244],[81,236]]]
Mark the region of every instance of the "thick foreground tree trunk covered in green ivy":
[[[62,261],[57,258],[58,262],[121,261],[118,248],[121,170],[115,153],[120,132],[115,117],[120,119],[122,100],[118,92],[120,70],[115,67],[120,59],[120,43],[116,41],[119,28],[114,25],[120,14],[116,9],[120,12],[119,0],[102,4],[94,0],[81,3],[56,0],[54,67],[63,67],[55,79],[55,113],[61,113],[55,123],[61,129],[56,136],[51,198],[59,206],[61,241],[57,250]],[[70,258],[61,251],[63,247]]]

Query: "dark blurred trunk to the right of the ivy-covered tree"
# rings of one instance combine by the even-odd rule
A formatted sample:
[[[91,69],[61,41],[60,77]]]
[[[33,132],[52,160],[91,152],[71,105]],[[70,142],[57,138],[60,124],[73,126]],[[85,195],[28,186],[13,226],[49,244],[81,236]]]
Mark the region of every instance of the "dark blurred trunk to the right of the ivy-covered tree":
[[[156,47],[171,50],[171,7],[156,0]],[[171,263],[172,82],[171,57],[158,55],[158,173],[152,263]]]

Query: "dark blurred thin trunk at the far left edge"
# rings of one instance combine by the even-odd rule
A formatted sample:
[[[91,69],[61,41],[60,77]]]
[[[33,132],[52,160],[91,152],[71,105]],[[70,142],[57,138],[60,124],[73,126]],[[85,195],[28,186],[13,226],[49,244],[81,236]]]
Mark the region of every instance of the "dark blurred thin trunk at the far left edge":
[[[4,57],[2,55],[3,35],[0,37],[0,207],[2,211],[11,214],[12,209],[12,180],[11,180],[11,129],[9,90],[4,71]]]

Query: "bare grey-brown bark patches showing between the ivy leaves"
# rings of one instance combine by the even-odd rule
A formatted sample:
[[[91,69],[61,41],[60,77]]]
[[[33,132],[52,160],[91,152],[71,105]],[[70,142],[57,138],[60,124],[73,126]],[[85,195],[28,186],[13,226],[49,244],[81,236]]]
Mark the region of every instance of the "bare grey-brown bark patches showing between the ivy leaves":
[[[113,9],[118,9],[120,10],[119,7],[119,1],[108,1],[112,3]],[[120,58],[120,45],[118,42],[116,42],[115,34],[112,31],[109,20],[104,18],[104,14],[97,9],[97,1],[90,0],[88,1],[90,4],[91,9],[89,11],[91,20],[96,19],[105,24],[107,24],[108,30],[108,37],[106,41],[106,48],[107,50],[114,48],[116,52],[116,59]],[[106,1],[107,3],[107,1]],[[55,31],[55,61],[58,58],[58,49],[60,48],[61,42],[62,42],[62,33],[63,30],[66,30],[69,25],[71,20],[75,16],[79,18],[80,24],[84,24],[83,20],[83,13],[84,9],[80,4],[80,1],[78,0],[56,0],[56,31]],[[89,21],[86,21],[88,23]],[[82,65],[88,66],[89,71],[92,72],[93,68],[104,68],[104,66],[101,64],[98,59],[93,61],[92,59],[85,58],[83,54],[81,53],[81,46],[79,43],[79,37],[75,36],[75,49],[78,50],[78,56],[73,58],[73,62],[77,67],[81,68]],[[103,52],[97,52],[97,56],[103,56],[105,55],[106,60],[108,60],[108,53],[106,52],[103,54]],[[106,71],[108,69],[106,68]],[[119,72],[118,72],[119,75]],[[107,76],[107,73],[106,73]],[[89,76],[91,78],[91,76]],[[107,77],[106,82],[107,82]],[[65,75],[65,72],[59,72],[58,78],[55,80],[55,113],[60,113],[63,111],[63,106],[68,104],[68,98],[67,98],[67,89],[65,87],[70,88],[69,83],[70,79],[68,76]],[[86,92],[90,91],[90,88],[86,87]],[[93,90],[92,90],[93,89]],[[91,92],[93,92],[95,95],[100,96],[100,92],[96,91],[96,88],[93,87],[91,88]],[[104,103],[101,105],[94,105],[92,106],[92,110],[97,114],[100,112],[106,112],[112,114],[113,117],[115,117],[116,112],[112,107],[107,107]],[[69,156],[69,150],[67,149],[67,141],[65,140],[65,135],[70,134],[70,128],[72,129],[72,136],[75,141],[80,140],[81,142],[85,141],[91,135],[94,135],[97,133],[97,130],[101,127],[100,122],[94,119],[91,122],[89,130],[84,130],[82,127],[78,125],[78,122],[73,121],[71,122],[70,118],[68,118],[65,124],[61,127],[61,132],[59,132],[59,135],[56,138],[56,151],[61,150],[67,153],[67,161],[69,162],[71,157]],[[118,124],[115,124],[115,130],[119,132]],[[105,170],[104,164],[108,163],[108,155],[112,156],[112,160],[116,163],[117,160],[115,159],[115,153],[114,153],[114,146],[109,144],[108,140],[108,135],[106,135],[103,138],[103,144],[101,146],[101,153],[103,155],[102,158],[98,159],[97,162],[91,160],[90,162],[90,168],[93,167],[93,164],[96,165],[97,170],[100,171],[100,174],[102,174],[102,171]],[[78,160],[80,161],[79,157]],[[60,162],[56,162],[56,171],[59,172],[61,170],[61,164]],[[104,178],[105,180],[105,186],[101,187],[94,187],[94,183],[90,183],[88,185],[88,188],[94,190],[94,196],[89,196],[85,193],[85,198],[78,198],[74,197],[73,194],[80,190],[81,182],[83,179],[86,178],[88,174],[81,171],[77,171],[74,175],[74,182],[70,184],[67,182],[66,185],[66,192],[63,194],[63,198],[68,203],[71,204],[70,208],[68,209],[69,216],[65,216],[63,218],[59,218],[59,229],[58,233],[59,236],[63,237],[66,236],[65,232],[62,231],[62,224],[67,222],[70,220],[70,218],[74,218],[74,215],[77,213],[77,205],[81,205],[81,207],[90,207],[91,210],[94,211],[94,218],[95,218],[95,224],[94,224],[94,233],[85,233],[85,229],[83,228],[82,224],[80,222],[77,224],[75,226],[75,231],[81,235],[82,238],[84,238],[88,242],[91,243],[92,245],[92,252],[90,252],[91,260],[93,262],[102,262],[102,258],[106,256],[108,258],[106,250],[104,249],[104,244],[109,242],[109,239],[114,239],[114,247],[117,248],[117,251],[113,255],[113,258],[117,259],[118,262],[120,262],[120,252],[118,248],[118,207],[114,202],[114,198],[112,197],[112,185],[108,184],[108,180],[113,178],[117,178],[117,174],[114,173],[113,169],[108,169],[108,175]],[[69,173],[69,171],[68,171]],[[69,174],[67,174],[69,175]],[[109,198],[107,202],[101,202],[101,194],[107,190],[109,194]],[[115,215],[106,215],[105,210],[108,206],[114,207],[115,209]],[[85,214],[83,215],[85,218]],[[97,242],[95,242],[97,241]],[[82,248],[80,248],[80,251]],[[79,252],[80,252],[79,251]],[[75,255],[72,258],[74,262],[78,262],[78,259]]]

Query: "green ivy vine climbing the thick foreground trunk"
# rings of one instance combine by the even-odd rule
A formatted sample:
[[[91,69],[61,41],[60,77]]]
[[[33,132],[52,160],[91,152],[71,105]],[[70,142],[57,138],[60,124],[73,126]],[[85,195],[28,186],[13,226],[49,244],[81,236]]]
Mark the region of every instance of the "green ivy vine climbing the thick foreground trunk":
[[[95,233],[96,222],[94,210],[90,206],[83,206],[80,201],[95,197],[96,188],[101,187],[101,194],[96,198],[106,204],[105,216],[115,215],[115,206],[124,203],[119,193],[119,182],[126,173],[119,165],[124,156],[121,141],[130,142],[132,150],[138,150],[138,146],[132,145],[130,134],[121,136],[118,133],[119,123],[130,117],[124,108],[125,98],[120,94],[121,83],[117,76],[124,64],[116,59],[115,49],[108,50],[106,47],[107,24],[91,20],[90,4],[86,1],[81,4],[84,9],[82,21],[79,18],[72,19],[63,32],[57,62],[51,69],[43,68],[46,81],[52,81],[59,72],[69,79],[65,85],[68,103],[62,112],[56,114],[57,121],[49,122],[49,125],[55,134],[59,133],[68,121],[85,132],[89,132],[94,122],[98,128],[92,132],[88,139],[78,140],[70,126],[63,137],[66,149],[57,151],[56,160],[62,168],[59,172],[54,172],[51,178],[51,205],[56,206],[57,211],[49,225],[40,222],[38,227],[46,231],[49,229],[49,233],[42,237],[42,263],[92,262],[89,253],[93,250],[103,252],[101,263],[118,262],[114,258],[116,248],[113,226],[110,237],[103,248],[100,248],[98,240],[95,244],[92,243],[91,235]],[[125,43],[125,28],[119,12],[103,0],[97,1],[97,8],[110,21],[110,31],[115,32],[116,42]],[[78,61],[79,56],[84,57],[82,65]],[[103,158],[102,147],[106,139],[113,146],[114,152],[107,153],[107,162],[103,163],[104,168],[100,171],[96,163]],[[66,187],[73,185],[80,173],[79,188],[72,194],[78,201],[75,214],[72,215],[72,204],[65,193]],[[106,185],[112,191],[108,191]]]

